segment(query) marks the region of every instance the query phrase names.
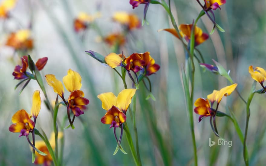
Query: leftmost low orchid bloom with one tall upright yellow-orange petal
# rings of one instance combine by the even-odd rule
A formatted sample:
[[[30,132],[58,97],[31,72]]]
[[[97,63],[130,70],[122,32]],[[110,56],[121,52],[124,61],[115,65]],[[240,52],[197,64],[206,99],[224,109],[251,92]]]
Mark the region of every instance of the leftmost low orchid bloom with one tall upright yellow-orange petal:
[[[32,107],[31,115],[27,113],[24,109],[18,110],[12,117],[12,124],[9,127],[11,132],[20,132],[19,137],[28,136],[30,132],[33,131],[36,123],[37,116],[41,110],[41,97],[40,91],[34,91],[32,97]],[[31,120],[34,118],[34,121]]]

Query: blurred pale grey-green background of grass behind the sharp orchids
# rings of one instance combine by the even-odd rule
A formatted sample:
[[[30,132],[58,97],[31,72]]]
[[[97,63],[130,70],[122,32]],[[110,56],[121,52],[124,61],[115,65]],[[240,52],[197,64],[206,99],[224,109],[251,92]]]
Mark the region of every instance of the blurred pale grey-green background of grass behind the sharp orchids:
[[[1,3],[2,1],[0,1]],[[216,22],[223,27],[225,33],[215,31],[209,39],[197,48],[203,54],[206,63],[213,64],[216,60],[228,71],[234,82],[238,83],[238,91],[247,99],[253,79],[248,73],[248,67],[253,65],[266,68],[266,1],[235,0],[214,11]],[[171,1],[171,9],[177,24],[192,24],[193,19],[201,11],[194,0]],[[24,91],[19,94],[22,86],[14,87],[12,72],[15,65],[20,64],[20,57],[30,54],[37,59],[48,57],[48,62],[41,74],[54,74],[62,80],[68,69],[75,70],[82,77],[82,88],[85,97],[89,99],[85,114],[76,118],[75,129],[64,130],[65,144],[64,165],[134,165],[125,136],[122,146],[128,155],[118,152],[113,156],[116,141],[109,125],[100,122],[105,114],[97,95],[104,92],[118,94],[123,87],[122,80],[108,66],[102,65],[85,51],[93,50],[104,56],[111,52],[126,56],[132,53],[149,51],[155,62],[161,66],[157,74],[149,78],[152,82],[152,92],[156,101],[145,100],[148,95],[143,84],[137,91],[136,123],[140,155],[143,165],[163,165],[167,158],[170,165],[192,165],[193,145],[183,93],[180,69],[185,60],[182,43],[171,34],[157,30],[171,28],[167,13],[160,5],[150,4],[146,19],[148,24],[133,30],[125,30],[125,25],[114,21],[112,15],[117,11],[136,14],[143,18],[144,5],[134,10],[129,0],[18,0],[14,8],[8,12],[8,17],[0,20],[0,165],[31,165],[31,151],[25,137],[18,139],[19,133],[11,133],[8,127],[12,124],[12,115],[25,109],[30,113],[32,94],[39,89],[36,81],[31,80]],[[89,14],[86,28],[75,30],[74,20],[80,12]],[[209,33],[212,22],[204,15],[197,24],[203,32]],[[7,40],[12,32],[30,30],[33,40],[32,48],[14,49],[7,46]],[[122,33],[125,41],[116,45],[107,40],[109,34]],[[206,71],[196,65],[194,101],[199,97],[207,97],[214,89],[218,90],[230,83],[219,75]],[[120,68],[120,67],[118,67]],[[120,71],[120,69],[118,69]],[[54,102],[56,94],[44,79],[48,97]],[[128,80],[128,86],[131,85]],[[257,85],[257,89],[260,88]],[[66,96],[68,96],[66,92]],[[44,100],[44,95],[41,93]],[[265,139],[265,101],[264,94],[255,94],[251,103],[247,146],[250,164],[262,165],[266,162]],[[37,129],[43,129],[47,136],[53,131],[52,117],[42,102],[42,108],[37,118]],[[219,111],[229,114],[233,110],[238,123],[244,132],[245,104],[233,92],[224,97]],[[66,115],[65,107],[60,107],[58,118],[63,121]],[[226,117],[217,118],[219,134],[228,141],[227,145],[208,146],[208,138],[217,142],[217,137],[209,125],[209,118],[198,123],[199,115],[194,113],[196,144],[199,165],[243,165],[243,146],[235,132],[233,123]],[[81,119],[80,119],[81,118]],[[129,120],[130,118],[128,118]],[[81,120],[85,122],[82,125]],[[131,135],[134,137],[132,123],[128,121]],[[63,126],[67,126],[67,123]],[[119,130],[119,129],[118,129]],[[159,134],[158,134],[159,133]],[[40,138],[37,136],[37,140]],[[135,143],[135,139],[133,138]]]

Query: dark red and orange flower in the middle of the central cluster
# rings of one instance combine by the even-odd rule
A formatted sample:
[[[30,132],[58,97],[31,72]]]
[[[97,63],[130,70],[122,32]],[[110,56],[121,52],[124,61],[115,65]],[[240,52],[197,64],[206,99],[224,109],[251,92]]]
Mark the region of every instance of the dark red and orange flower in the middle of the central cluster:
[[[125,58],[125,68],[128,71],[132,70],[136,73],[143,65],[145,65],[145,61],[142,60],[141,56],[139,56],[137,53],[133,53]]]

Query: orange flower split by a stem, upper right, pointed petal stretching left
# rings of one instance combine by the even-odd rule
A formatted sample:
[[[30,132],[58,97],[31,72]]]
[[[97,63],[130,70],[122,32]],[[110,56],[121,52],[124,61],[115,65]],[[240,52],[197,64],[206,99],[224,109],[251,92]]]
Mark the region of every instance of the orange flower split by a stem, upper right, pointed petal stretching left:
[[[181,37],[184,37],[185,40],[189,43],[190,42],[190,35],[191,35],[191,29],[192,29],[193,24],[181,24],[179,26],[179,30],[180,30],[180,35]],[[175,37],[177,37],[178,39],[179,36],[177,34],[177,31],[175,29],[162,29],[165,30],[171,34],[173,34]],[[159,30],[161,31],[161,30]],[[203,43],[204,41],[206,41],[209,38],[209,35],[206,33],[202,32],[202,29],[200,29],[199,27],[195,27],[195,47],[200,45],[201,43]]]

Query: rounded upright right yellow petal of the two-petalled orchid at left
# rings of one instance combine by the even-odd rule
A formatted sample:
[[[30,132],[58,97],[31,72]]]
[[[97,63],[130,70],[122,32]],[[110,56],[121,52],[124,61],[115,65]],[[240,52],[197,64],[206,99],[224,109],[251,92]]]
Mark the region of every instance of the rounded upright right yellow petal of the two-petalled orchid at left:
[[[67,75],[63,77],[63,83],[69,92],[79,90],[81,88],[81,76],[78,72],[71,69],[67,71]]]

